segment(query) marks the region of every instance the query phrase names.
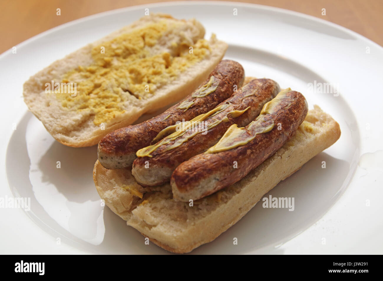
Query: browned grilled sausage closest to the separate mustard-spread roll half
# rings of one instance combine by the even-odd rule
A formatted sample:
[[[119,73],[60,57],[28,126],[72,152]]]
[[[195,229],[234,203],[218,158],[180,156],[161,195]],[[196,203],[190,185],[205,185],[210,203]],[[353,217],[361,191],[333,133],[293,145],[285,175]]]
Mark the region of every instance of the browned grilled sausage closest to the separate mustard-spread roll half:
[[[129,167],[136,151],[157,142],[167,135],[162,130],[177,121],[191,120],[208,112],[230,97],[244,81],[242,65],[233,60],[222,60],[205,83],[164,113],[137,125],[115,130],[98,143],[98,160],[107,169]],[[237,87],[235,87],[237,85]]]

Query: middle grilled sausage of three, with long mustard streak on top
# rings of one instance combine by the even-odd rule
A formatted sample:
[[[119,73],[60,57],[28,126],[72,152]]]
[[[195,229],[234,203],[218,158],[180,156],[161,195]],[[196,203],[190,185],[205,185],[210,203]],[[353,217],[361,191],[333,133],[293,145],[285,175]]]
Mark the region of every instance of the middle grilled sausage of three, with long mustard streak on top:
[[[250,81],[215,109],[173,126],[174,133],[137,151],[132,174],[141,185],[169,182],[179,164],[214,145],[232,124],[249,124],[279,90],[278,83],[270,79]]]

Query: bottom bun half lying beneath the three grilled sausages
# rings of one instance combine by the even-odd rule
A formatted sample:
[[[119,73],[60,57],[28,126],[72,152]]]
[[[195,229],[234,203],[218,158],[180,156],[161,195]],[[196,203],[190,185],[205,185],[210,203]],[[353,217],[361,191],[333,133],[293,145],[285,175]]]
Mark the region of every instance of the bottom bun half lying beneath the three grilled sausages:
[[[97,161],[93,180],[105,204],[129,226],[165,250],[187,253],[239,221],[265,193],[339,136],[339,124],[314,106],[295,135],[274,155],[239,182],[194,201],[193,207],[174,201],[170,184],[142,188],[129,168],[108,170]]]

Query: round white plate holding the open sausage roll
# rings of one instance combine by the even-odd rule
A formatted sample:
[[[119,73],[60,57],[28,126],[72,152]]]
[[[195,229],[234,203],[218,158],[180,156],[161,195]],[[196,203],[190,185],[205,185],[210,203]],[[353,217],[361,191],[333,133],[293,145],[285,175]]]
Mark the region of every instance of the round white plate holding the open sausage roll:
[[[29,76],[144,16],[144,8],[176,18],[195,17],[205,26],[206,37],[214,32],[228,42],[225,58],[242,63],[248,76],[272,78],[282,88],[300,91],[310,108],[321,106],[342,130],[335,145],[266,195],[294,197],[294,211],[257,204],[192,253],[382,253],[382,47],[300,13],[206,1],[89,16],[17,45],[16,54],[8,50],[0,56],[5,159],[0,197],[31,198],[30,211],[0,209],[1,253],[167,253],[144,245],[141,234],[101,207],[92,180],[96,147],[76,149],[56,142],[22,99]],[[314,81],[338,85],[340,94],[314,93],[308,86]],[[238,245],[233,245],[233,237]]]

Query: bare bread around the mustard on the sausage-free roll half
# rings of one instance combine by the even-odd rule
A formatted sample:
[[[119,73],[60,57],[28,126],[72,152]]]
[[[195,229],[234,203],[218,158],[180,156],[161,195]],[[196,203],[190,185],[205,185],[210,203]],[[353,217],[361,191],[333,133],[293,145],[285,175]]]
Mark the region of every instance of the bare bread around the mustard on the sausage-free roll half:
[[[96,47],[103,45],[105,42],[112,42],[114,39],[119,38],[119,36],[124,36],[124,34],[130,34],[142,28],[147,28],[150,24],[160,23],[165,23],[167,28],[158,41],[153,45],[149,39],[144,39],[143,50],[147,54],[159,56],[158,60],[162,63],[169,58],[167,54],[170,54],[171,61],[179,59],[180,54],[178,52],[181,52],[179,48],[183,48],[182,50],[185,53],[189,51],[189,46],[196,46],[198,44],[205,46],[207,44],[206,54],[203,53],[204,55],[201,60],[197,60],[191,63],[191,65],[186,65],[182,68],[182,71],[172,76],[171,81],[154,85],[155,90],[146,96],[137,96],[135,93],[131,93],[129,87],[132,85],[129,84],[123,87],[113,84],[106,85],[113,94],[118,93],[117,96],[113,96],[113,99],[117,99],[118,102],[121,99],[118,114],[113,115],[112,112],[108,115],[110,118],[105,119],[103,122],[98,122],[96,120],[97,110],[95,112],[93,108],[82,108],[81,102],[79,102],[80,107],[75,109],[67,108],[63,106],[63,102],[57,98],[56,94],[46,93],[46,83],[51,83],[51,81],[54,81],[54,83],[62,83],[63,81],[64,83],[76,83],[77,80],[65,80],[66,75],[73,70],[79,69],[80,71],[80,67],[81,69],[92,68],[96,63],[93,57]],[[214,35],[207,42],[201,41],[204,36],[205,29],[195,19],[178,20],[164,14],[144,16],[129,26],[121,28],[67,55],[61,60],[53,62],[48,67],[31,76],[23,87],[24,101],[29,110],[41,120],[47,131],[60,143],[73,147],[95,145],[107,133],[132,124],[142,114],[152,112],[167,104],[178,101],[193,92],[206,79],[215,65],[219,63],[228,47],[226,43],[218,41]],[[127,49],[129,48],[132,47],[128,46]],[[196,52],[197,47],[195,47]],[[165,55],[161,57],[161,54]],[[190,54],[190,56],[193,56],[193,54]],[[142,58],[142,60],[144,61],[145,58]],[[114,60],[110,63],[113,65]],[[87,71],[92,71],[88,70],[88,68]],[[107,66],[105,68],[108,69]],[[134,73],[134,71],[140,71],[140,69],[132,69],[131,71]],[[149,75],[149,78],[146,78],[150,80],[154,76]],[[77,82],[80,83],[81,81],[79,78]],[[97,81],[90,82],[94,83],[95,88],[97,87]],[[77,92],[79,93],[79,91]],[[101,92],[102,94],[104,93]],[[90,100],[93,98],[90,97]],[[114,100],[105,106],[106,109],[104,111],[108,113],[108,106],[110,104],[113,106],[113,103],[115,103]]]

